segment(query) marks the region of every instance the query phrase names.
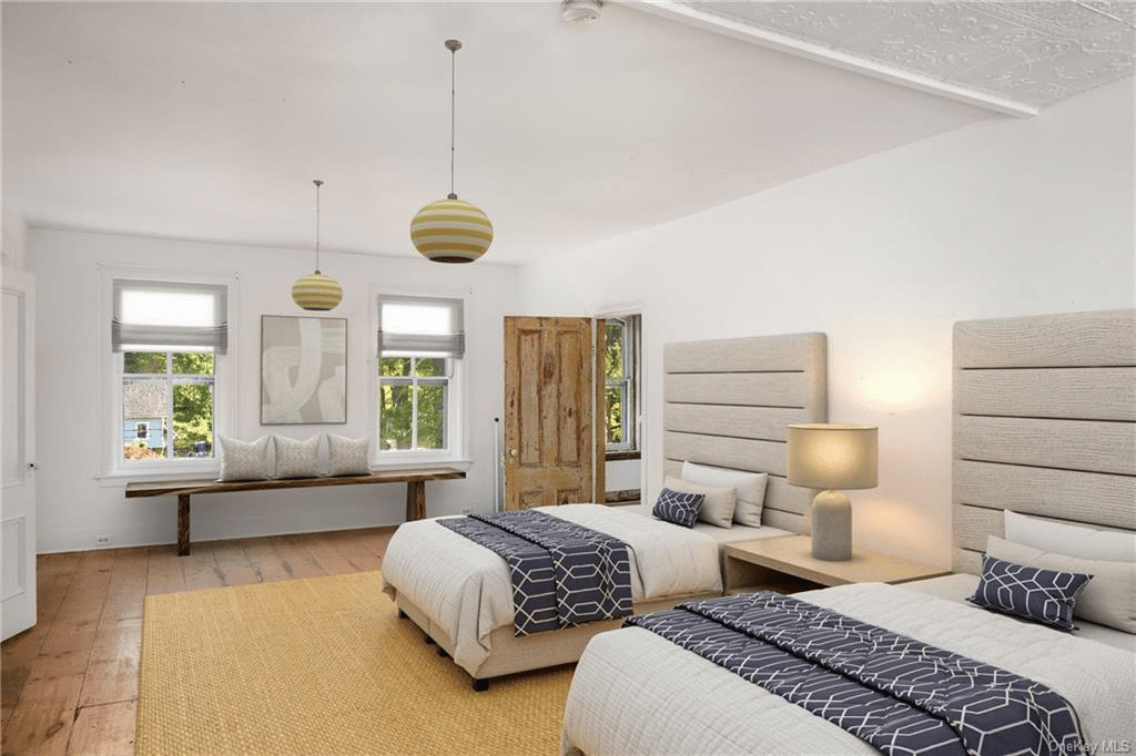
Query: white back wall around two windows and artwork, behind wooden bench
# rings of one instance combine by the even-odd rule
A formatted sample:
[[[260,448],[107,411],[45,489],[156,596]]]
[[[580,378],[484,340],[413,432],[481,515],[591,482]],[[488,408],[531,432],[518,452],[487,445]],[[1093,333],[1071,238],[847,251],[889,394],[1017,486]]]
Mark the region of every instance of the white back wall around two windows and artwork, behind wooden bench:
[[[265,432],[307,438],[320,431],[359,437],[371,430],[375,337],[371,287],[466,297],[468,419],[473,464],[465,480],[426,484],[427,514],[493,506],[493,419],[502,406],[501,318],[513,309],[513,268],[479,262],[438,266],[418,259],[321,252],[321,268],[344,288],[328,316],[348,318],[348,422],[260,425],[260,316],[304,314],[292,282],[310,271],[311,252],[33,228],[30,267],[37,275],[39,551],[174,543],[174,497],[124,498],[122,479],[102,479],[106,412],[100,346],[109,328],[100,310],[99,266],[130,264],[236,271],[237,311],[229,313],[237,370],[237,438]],[[344,486],[195,496],[194,540],[333,530],[403,520],[406,487]]]

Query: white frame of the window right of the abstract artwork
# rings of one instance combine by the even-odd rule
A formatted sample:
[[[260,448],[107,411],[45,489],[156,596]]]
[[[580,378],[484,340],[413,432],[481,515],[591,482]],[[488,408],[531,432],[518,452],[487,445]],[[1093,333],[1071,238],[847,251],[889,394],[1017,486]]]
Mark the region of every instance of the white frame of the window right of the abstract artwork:
[[[389,287],[371,286],[370,287],[370,306],[371,306],[371,339],[370,339],[370,380],[371,380],[371,402],[370,402],[370,428],[374,434],[375,443],[371,446],[371,460],[370,465],[373,469],[393,469],[393,468],[429,468],[429,467],[469,467],[469,459],[466,456],[466,450],[469,448],[468,438],[468,422],[466,419],[467,408],[468,408],[468,381],[466,380],[467,364],[466,360],[469,356],[468,350],[461,358],[448,358],[446,364],[449,367],[449,390],[446,392],[446,417],[445,417],[445,428],[446,428],[446,447],[440,450],[384,450],[382,448],[382,442],[379,438],[379,387],[381,379],[378,375],[379,359],[377,348],[377,334],[379,328],[379,308],[382,306],[383,297],[399,297],[399,299],[421,299],[421,300],[457,300],[461,302],[462,313],[468,310],[469,302],[466,297],[466,292],[446,292],[446,291],[406,291],[406,289],[392,289]],[[468,333],[468,329],[466,329]],[[398,354],[410,355],[409,352]],[[390,355],[394,356],[394,354]],[[426,354],[428,356],[428,354]],[[409,378],[409,377],[408,377]]]

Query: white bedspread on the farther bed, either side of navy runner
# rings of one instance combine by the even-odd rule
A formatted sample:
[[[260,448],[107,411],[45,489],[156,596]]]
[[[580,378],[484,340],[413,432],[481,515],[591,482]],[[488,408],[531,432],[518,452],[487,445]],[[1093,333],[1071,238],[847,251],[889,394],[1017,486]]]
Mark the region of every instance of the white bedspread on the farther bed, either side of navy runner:
[[[630,546],[632,597],[721,593],[718,544],[693,530],[601,504],[538,507],[615,536]],[[512,585],[504,560],[434,520],[407,522],[383,556],[383,590],[404,596],[454,640],[453,661],[476,670],[490,633],[512,624]]]

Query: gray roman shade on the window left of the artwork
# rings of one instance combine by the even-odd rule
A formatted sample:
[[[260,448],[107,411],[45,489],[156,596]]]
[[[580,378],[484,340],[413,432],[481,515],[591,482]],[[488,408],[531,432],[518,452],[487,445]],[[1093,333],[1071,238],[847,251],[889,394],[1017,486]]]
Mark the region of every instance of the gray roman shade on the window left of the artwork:
[[[115,352],[211,348],[228,352],[228,288],[115,279],[110,345]]]

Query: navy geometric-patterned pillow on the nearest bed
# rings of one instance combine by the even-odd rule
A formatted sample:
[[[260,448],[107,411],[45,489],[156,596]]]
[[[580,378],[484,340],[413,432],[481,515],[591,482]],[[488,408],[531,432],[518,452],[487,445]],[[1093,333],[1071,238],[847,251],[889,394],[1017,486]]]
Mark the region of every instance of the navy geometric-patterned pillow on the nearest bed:
[[[983,574],[969,600],[1068,632],[1077,629],[1072,607],[1092,579],[1091,574],[1043,570],[983,554]]]

